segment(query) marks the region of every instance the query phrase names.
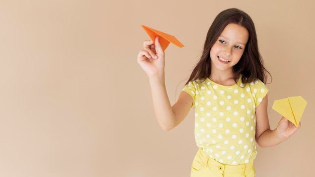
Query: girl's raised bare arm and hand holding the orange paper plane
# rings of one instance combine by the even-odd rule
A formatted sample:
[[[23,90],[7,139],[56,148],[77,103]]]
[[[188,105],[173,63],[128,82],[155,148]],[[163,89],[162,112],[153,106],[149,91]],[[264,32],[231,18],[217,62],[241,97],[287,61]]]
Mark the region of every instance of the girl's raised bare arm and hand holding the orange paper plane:
[[[149,77],[153,108],[157,122],[163,130],[171,130],[180,124],[191,108],[191,96],[182,92],[178,101],[172,107],[165,85],[165,53],[156,37],[155,41],[144,41],[143,49],[139,51],[137,61]]]

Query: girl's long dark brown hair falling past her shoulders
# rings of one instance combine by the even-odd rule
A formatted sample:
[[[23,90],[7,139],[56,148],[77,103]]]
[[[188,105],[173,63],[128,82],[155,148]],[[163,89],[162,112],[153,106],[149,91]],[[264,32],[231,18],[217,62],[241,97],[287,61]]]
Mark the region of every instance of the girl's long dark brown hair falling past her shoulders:
[[[257,35],[254,22],[251,17],[239,9],[227,9],[222,11],[214,19],[208,30],[206,41],[204,43],[201,58],[193,69],[188,81],[197,79],[206,79],[211,73],[210,50],[216,42],[226,25],[234,23],[246,28],[249,32],[249,39],[245,47],[244,53],[240,61],[233,66],[234,73],[242,74],[242,82],[250,83],[256,79],[260,79],[266,83],[267,75],[270,73],[263,65],[262,57],[258,50]]]

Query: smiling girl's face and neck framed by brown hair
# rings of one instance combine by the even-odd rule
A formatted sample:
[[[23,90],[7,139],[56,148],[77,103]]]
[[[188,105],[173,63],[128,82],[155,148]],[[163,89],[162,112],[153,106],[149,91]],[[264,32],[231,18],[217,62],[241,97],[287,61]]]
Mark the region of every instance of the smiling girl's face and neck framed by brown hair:
[[[210,50],[211,73],[216,71],[232,71],[245,50],[249,33],[246,28],[228,24]]]

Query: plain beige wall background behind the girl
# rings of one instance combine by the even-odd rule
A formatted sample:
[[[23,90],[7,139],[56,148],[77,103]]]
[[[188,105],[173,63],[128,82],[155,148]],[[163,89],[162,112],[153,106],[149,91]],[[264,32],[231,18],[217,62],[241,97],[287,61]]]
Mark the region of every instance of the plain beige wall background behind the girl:
[[[193,110],[164,132],[153,117],[148,79],[136,62],[148,36],[175,35],[166,50],[172,103],[222,10],[254,20],[274,100],[301,95],[302,127],[259,148],[257,176],[312,176],[313,1],[0,1],[0,176],[189,176],[197,147]]]

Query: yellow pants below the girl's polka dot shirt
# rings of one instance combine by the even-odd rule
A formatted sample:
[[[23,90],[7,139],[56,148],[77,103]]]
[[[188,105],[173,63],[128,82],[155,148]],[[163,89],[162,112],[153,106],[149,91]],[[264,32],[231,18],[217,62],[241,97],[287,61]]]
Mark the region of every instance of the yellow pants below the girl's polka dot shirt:
[[[191,177],[255,177],[253,161],[240,165],[225,165],[209,157],[199,148],[192,167]]]

